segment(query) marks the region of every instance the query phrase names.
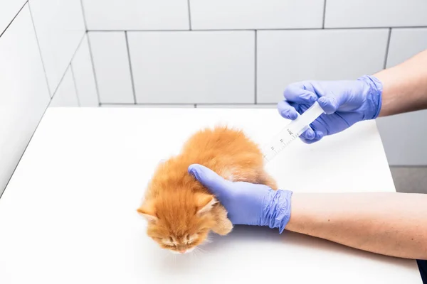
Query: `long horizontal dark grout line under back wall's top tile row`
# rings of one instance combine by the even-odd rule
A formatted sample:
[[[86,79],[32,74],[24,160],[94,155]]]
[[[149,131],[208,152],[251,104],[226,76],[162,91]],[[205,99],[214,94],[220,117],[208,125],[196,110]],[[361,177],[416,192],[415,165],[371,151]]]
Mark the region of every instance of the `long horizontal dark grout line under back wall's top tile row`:
[[[257,28],[257,31],[320,31],[320,30],[371,30],[371,29],[388,29],[388,28],[427,28],[427,26],[371,26],[371,27],[347,27],[347,28]],[[117,31],[138,31],[138,32],[185,32],[183,29],[176,30],[88,30],[93,32],[117,32]],[[254,31],[253,28],[223,28],[223,29],[192,29],[191,31]]]

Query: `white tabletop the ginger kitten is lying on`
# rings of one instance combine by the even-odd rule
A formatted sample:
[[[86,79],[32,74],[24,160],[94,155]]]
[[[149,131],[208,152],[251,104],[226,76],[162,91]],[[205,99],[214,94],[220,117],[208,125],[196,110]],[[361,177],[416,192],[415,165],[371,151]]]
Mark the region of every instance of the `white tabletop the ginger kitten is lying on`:
[[[0,200],[0,283],[421,283],[416,262],[259,227],[174,256],[135,209],[154,166],[216,122],[260,143],[285,121],[273,109],[48,109]],[[374,122],[268,165],[295,191],[394,191]],[[255,282],[255,283],[256,283]]]

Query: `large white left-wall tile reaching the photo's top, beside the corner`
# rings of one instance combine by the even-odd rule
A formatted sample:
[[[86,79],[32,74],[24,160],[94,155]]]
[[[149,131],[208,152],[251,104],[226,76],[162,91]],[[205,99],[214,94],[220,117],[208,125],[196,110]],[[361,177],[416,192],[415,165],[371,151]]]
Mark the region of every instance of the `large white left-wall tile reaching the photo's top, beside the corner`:
[[[38,43],[51,93],[85,33],[79,0],[30,0]]]

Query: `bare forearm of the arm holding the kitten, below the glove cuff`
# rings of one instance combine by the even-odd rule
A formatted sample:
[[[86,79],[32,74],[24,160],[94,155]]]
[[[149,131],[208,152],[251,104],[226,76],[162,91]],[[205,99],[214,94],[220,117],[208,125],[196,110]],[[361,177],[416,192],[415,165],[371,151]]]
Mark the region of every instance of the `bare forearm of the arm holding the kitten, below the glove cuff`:
[[[286,229],[364,251],[427,259],[427,195],[294,192]]]

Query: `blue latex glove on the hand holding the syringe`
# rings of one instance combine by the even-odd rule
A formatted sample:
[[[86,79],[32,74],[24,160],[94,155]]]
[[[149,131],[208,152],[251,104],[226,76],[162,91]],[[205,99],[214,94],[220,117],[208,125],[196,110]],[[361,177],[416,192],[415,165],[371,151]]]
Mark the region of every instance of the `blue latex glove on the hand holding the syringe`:
[[[354,81],[305,81],[290,84],[278,111],[285,119],[296,119],[317,101],[327,114],[319,116],[300,136],[305,143],[319,141],[353,124],[375,119],[381,109],[382,83],[365,75]]]

